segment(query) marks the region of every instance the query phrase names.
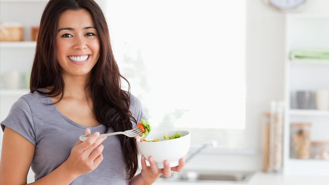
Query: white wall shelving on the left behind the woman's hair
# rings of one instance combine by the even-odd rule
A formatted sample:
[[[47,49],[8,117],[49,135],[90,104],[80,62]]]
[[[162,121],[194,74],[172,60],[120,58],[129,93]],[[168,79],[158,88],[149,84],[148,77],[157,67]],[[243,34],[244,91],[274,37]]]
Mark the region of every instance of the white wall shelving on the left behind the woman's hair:
[[[36,46],[36,42],[31,41],[31,29],[39,25],[47,2],[0,0],[0,23],[20,24],[24,35],[23,41],[0,42],[0,121],[5,119],[13,102],[28,93],[29,72]]]

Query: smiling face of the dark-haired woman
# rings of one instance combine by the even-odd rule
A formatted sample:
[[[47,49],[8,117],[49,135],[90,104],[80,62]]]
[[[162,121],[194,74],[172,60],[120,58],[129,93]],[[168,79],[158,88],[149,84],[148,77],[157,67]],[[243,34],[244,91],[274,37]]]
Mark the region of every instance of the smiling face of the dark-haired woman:
[[[56,46],[63,76],[89,75],[100,48],[92,15],[85,9],[64,11],[58,21]]]

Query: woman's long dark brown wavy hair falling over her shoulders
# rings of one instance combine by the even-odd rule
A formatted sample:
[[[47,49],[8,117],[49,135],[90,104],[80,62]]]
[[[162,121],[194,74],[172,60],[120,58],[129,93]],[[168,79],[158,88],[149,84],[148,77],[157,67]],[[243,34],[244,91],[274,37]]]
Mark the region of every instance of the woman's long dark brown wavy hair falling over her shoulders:
[[[93,0],[50,0],[41,17],[36,52],[31,71],[30,92],[63,98],[64,81],[62,69],[56,59],[56,34],[59,16],[66,10],[86,9],[92,14],[100,41],[99,59],[92,69],[90,81],[86,89],[94,105],[94,114],[99,123],[114,131],[132,129],[131,120],[136,123],[130,113],[130,85],[120,74],[114,59],[109,41],[108,26],[101,8]],[[129,90],[121,89],[121,79],[129,85]],[[51,86],[47,93],[38,90]],[[59,101],[60,101],[59,100]],[[134,138],[119,136],[126,169],[132,178],[138,168],[138,152]]]

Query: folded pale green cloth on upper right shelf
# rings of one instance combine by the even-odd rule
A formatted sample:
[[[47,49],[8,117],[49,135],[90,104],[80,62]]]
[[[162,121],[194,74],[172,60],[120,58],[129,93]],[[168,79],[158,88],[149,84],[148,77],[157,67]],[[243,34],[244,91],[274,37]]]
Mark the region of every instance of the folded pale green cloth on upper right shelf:
[[[294,59],[320,59],[329,60],[329,50],[294,50],[290,52],[290,60]]]

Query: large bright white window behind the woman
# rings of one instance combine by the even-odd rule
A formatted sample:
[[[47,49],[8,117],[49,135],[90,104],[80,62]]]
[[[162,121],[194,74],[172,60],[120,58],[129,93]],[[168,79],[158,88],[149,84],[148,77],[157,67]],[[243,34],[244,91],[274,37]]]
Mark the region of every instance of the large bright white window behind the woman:
[[[243,145],[244,1],[108,1],[106,12],[120,71],[154,130]]]

